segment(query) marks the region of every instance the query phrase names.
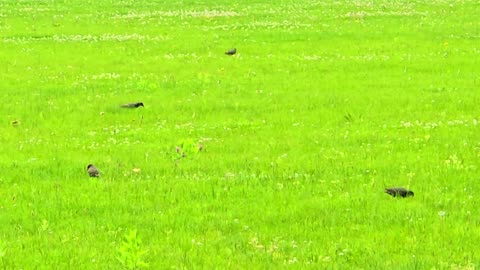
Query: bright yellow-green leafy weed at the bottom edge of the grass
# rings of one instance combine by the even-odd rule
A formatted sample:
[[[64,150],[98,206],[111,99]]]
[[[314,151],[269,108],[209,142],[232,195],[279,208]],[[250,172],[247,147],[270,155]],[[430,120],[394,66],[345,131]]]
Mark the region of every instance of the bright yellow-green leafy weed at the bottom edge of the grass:
[[[149,265],[144,260],[147,252],[148,250],[142,249],[142,240],[137,236],[137,230],[131,230],[124,235],[117,260],[126,269],[148,268]]]

